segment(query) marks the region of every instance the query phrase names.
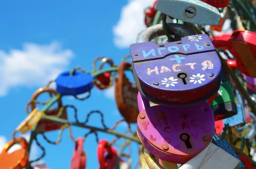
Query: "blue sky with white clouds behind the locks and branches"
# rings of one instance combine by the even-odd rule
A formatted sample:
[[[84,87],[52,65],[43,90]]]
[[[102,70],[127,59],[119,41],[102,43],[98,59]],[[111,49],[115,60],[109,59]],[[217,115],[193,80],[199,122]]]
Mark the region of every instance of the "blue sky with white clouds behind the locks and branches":
[[[11,139],[12,131],[26,118],[25,106],[36,89],[45,86],[60,72],[81,66],[92,71],[92,62],[98,56],[110,57],[119,64],[129,54],[129,45],[136,42],[137,34],[145,28],[144,7],[154,0],[118,0],[114,3],[99,1],[28,0],[0,2],[0,149]],[[44,60],[44,61],[43,61]],[[64,105],[75,105],[79,119],[85,119],[91,110],[101,110],[111,127],[121,119],[113,97],[113,88],[105,92],[96,88],[88,100],[65,97]],[[68,110],[74,120],[73,110]],[[102,127],[99,116],[93,115],[89,125]],[[133,126],[134,128],[135,126]],[[118,131],[124,132],[125,123]],[[135,128],[134,128],[135,129]],[[75,138],[87,130],[72,127]],[[29,132],[24,135],[29,139]],[[58,132],[47,133],[57,140]],[[50,169],[68,169],[74,143],[65,130],[57,146],[47,143],[41,135],[39,142],[46,149],[42,159]],[[113,140],[112,135],[99,133],[100,139]],[[122,141],[122,140],[120,140]],[[132,157],[137,162],[137,144]],[[18,146],[13,148],[17,149]],[[87,169],[97,169],[97,144],[94,135],[85,143]],[[41,150],[32,146],[31,159],[38,158]],[[43,162],[41,161],[41,162]]]

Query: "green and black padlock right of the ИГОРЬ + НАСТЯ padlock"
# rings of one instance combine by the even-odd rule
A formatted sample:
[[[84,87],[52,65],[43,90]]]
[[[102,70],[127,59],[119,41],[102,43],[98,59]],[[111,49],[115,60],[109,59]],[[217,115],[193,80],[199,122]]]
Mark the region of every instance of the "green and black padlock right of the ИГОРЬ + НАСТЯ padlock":
[[[210,106],[212,108],[215,121],[237,114],[233,88],[226,80],[226,75],[223,69],[221,69],[221,87],[218,90],[218,95]]]

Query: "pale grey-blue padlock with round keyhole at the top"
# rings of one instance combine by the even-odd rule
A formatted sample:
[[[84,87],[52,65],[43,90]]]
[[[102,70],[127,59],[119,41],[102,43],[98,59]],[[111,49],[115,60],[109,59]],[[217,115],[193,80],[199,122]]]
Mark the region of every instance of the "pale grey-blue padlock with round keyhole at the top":
[[[200,0],[157,0],[156,9],[184,22],[201,25],[218,25],[218,9]]]

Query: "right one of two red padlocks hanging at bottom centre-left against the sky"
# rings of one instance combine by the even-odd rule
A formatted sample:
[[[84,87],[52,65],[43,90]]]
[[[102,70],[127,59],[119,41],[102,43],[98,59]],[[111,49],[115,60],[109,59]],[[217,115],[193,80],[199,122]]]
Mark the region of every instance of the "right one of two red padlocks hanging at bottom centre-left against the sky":
[[[104,156],[105,152],[108,152],[108,155]],[[99,160],[99,169],[113,169],[118,157],[116,154],[116,149],[108,146],[107,140],[99,141],[97,154]]]

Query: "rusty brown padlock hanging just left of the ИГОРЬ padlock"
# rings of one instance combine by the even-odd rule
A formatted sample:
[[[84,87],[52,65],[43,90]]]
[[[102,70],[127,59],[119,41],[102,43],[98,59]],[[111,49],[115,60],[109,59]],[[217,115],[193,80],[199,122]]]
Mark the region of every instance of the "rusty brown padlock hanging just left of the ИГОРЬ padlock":
[[[137,105],[138,89],[125,75],[125,68],[130,66],[130,63],[123,62],[119,67],[119,77],[116,78],[115,83],[115,97],[117,108],[127,123],[136,123],[140,113]]]

